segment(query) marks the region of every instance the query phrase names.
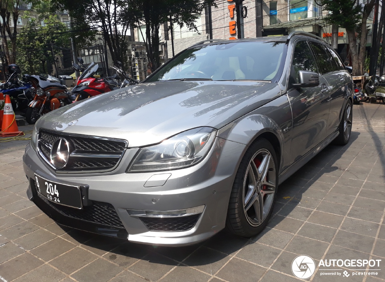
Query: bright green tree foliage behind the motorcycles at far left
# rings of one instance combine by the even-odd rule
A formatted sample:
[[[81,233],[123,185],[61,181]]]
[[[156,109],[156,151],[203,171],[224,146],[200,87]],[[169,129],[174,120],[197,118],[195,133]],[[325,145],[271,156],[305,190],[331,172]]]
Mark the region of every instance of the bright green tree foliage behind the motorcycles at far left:
[[[55,16],[44,20],[45,27],[35,20],[21,28],[17,38],[17,60],[23,73],[47,73],[47,61],[52,60],[52,47],[70,47],[69,29]],[[53,48],[54,55],[60,56],[61,49]]]

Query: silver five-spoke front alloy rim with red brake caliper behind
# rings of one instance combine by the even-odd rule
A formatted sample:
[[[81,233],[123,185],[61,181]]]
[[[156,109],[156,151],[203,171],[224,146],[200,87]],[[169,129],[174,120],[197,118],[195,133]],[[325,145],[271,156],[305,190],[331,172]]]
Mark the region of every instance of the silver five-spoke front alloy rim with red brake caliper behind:
[[[261,225],[272,207],[276,188],[273,157],[266,149],[251,158],[243,182],[243,210],[248,223]]]

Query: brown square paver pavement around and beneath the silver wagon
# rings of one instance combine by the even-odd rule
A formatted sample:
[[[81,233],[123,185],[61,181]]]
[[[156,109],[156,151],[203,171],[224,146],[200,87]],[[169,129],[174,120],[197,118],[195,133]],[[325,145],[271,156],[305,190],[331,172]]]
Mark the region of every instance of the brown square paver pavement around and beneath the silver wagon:
[[[133,244],[57,225],[26,198],[27,142],[0,143],[0,279],[290,282],[298,280],[291,272],[293,259],[309,255],[316,265],[321,259],[382,260],[378,275],[329,267],[346,270],[349,277],[322,276],[317,267],[311,281],[384,281],[385,105],[365,103],[353,110],[349,144],[328,146],[279,187],[262,234],[245,239],[221,232],[181,248]]]

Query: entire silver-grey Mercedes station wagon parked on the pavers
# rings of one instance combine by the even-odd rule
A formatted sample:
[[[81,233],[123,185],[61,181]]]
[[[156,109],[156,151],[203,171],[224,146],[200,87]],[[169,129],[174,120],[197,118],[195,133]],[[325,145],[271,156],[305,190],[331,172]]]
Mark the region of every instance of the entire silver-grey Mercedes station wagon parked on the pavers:
[[[40,118],[28,197],[62,225],[181,246],[266,226],[279,184],[352,128],[352,77],[323,40],[208,40],[138,85]]]

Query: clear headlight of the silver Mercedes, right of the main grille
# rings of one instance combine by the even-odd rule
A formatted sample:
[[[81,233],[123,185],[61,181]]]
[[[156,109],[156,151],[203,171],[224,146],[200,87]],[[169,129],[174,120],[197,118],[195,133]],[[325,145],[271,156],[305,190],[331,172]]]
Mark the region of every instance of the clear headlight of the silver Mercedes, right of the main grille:
[[[139,151],[128,172],[181,169],[197,164],[208,153],[216,136],[211,127],[179,133],[161,144]]]

